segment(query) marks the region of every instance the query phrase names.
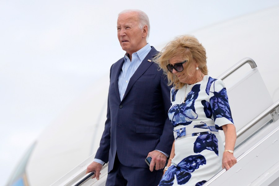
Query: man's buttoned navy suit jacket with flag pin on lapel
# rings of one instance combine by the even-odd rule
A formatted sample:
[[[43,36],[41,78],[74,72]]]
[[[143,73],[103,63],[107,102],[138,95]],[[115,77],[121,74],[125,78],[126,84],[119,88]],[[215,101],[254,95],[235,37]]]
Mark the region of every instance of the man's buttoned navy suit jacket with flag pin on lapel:
[[[170,154],[174,141],[167,117],[171,87],[167,86],[162,70],[152,61],[157,53],[152,47],[132,75],[122,101],[118,77],[124,58],[111,66],[107,120],[95,155],[109,162],[108,172],[113,169],[116,153],[123,165],[142,168],[148,168],[144,160],[149,152],[156,149]]]

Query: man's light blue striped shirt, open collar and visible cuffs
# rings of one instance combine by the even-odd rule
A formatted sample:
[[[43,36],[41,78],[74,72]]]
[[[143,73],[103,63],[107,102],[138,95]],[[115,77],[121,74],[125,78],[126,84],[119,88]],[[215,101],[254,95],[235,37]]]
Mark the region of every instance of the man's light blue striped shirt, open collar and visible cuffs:
[[[127,89],[128,83],[130,81],[130,78],[135,73],[135,71],[138,69],[141,62],[144,60],[146,55],[150,52],[151,47],[149,43],[145,45],[143,48],[141,48],[139,51],[132,54],[132,61],[130,61],[129,57],[127,55],[124,56],[124,63],[122,66],[122,70],[118,77],[118,89],[119,89],[119,95],[120,100],[122,101],[123,96],[125,94],[125,91]],[[159,150],[157,150],[159,151]],[[168,154],[159,151],[163,153],[166,157],[169,157]],[[94,159],[93,162],[98,162],[100,164],[104,164],[105,162],[100,159]]]

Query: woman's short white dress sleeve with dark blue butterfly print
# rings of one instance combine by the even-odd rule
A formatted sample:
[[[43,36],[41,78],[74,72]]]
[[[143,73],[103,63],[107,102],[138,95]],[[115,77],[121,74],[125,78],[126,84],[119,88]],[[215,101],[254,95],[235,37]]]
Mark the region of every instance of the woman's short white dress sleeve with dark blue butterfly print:
[[[222,130],[223,125],[233,124],[227,90],[222,80],[217,79],[212,82],[209,96],[212,117],[215,125],[217,125],[216,128]]]

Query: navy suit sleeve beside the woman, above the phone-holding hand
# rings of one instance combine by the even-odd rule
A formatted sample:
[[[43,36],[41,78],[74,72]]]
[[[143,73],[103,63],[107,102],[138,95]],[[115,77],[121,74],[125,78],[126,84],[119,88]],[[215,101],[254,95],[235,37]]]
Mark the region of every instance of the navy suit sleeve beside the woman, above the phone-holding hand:
[[[170,119],[168,117],[168,111],[170,108],[170,89],[171,87],[167,85],[167,77],[162,74],[161,77],[161,91],[162,91],[162,99],[164,103],[164,116],[166,117],[165,125],[163,128],[163,133],[160,137],[160,142],[156,146],[156,150],[160,150],[168,155],[170,155],[170,151],[172,148],[172,144],[174,141],[173,129],[170,123]]]

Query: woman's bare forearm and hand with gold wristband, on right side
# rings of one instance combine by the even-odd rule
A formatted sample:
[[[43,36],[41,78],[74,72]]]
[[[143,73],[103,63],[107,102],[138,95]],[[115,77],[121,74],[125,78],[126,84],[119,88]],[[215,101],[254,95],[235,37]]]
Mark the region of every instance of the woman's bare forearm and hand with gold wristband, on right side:
[[[227,124],[222,126],[225,133],[225,150],[234,150],[236,141],[236,131],[233,124]],[[222,168],[229,170],[234,164],[237,163],[237,159],[233,156],[233,153],[224,152],[222,159]]]

